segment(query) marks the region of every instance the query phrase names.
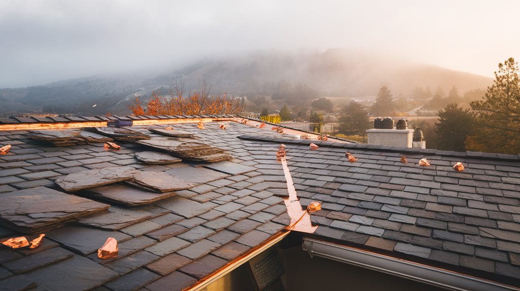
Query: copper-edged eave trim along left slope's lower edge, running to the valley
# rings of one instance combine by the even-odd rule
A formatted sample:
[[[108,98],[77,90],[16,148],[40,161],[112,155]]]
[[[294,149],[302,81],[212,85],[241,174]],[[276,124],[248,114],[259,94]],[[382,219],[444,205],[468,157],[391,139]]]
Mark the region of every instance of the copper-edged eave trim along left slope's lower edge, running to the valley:
[[[235,270],[245,262],[249,261],[251,258],[255,257],[256,255],[264,252],[269,247],[274,246],[281,240],[283,240],[287,235],[291,233],[290,231],[283,231],[278,232],[274,236],[272,236],[268,241],[266,241],[264,244],[257,246],[256,248],[253,248],[253,250],[249,251],[245,255],[231,261],[228,263],[228,265],[220,268],[219,270],[215,271],[213,274],[207,276],[206,278],[203,278],[199,280],[195,285],[188,287],[184,289],[184,291],[200,291],[204,289],[205,287],[209,286],[211,283],[217,281],[218,279],[222,278],[229,272]]]

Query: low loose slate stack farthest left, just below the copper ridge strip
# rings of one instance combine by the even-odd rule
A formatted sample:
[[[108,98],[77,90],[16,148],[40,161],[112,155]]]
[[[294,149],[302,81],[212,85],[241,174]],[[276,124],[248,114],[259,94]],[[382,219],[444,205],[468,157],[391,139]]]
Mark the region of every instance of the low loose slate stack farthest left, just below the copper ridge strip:
[[[27,134],[35,141],[50,143],[54,146],[84,145],[113,141],[112,138],[84,130],[31,130]]]

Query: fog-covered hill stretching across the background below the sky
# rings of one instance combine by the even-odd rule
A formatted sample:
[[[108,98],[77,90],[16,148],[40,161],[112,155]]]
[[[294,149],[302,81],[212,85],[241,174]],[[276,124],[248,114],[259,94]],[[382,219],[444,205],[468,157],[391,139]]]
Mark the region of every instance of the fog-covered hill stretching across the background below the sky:
[[[190,90],[206,80],[213,93],[271,95],[283,86],[306,86],[322,96],[375,95],[383,85],[396,95],[415,87],[457,86],[460,92],[486,88],[491,78],[371,56],[349,50],[320,53],[256,52],[238,57],[206,59],[167,73],[96,76],[58,81],[46,86],[0,89],[0,114],[33,112],[100,115],[127,113],[136,95],[179,84]],[[163,88],[163,90],[167,90]],[[96,105],[93,107],[93,105]]]

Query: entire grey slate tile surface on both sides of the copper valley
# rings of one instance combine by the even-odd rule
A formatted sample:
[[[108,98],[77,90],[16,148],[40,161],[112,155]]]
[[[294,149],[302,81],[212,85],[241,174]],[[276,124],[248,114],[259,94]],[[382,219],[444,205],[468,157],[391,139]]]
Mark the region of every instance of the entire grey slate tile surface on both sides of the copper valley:
[[[12,145],[11,154],[0,156],[0,198],[36,187],[64,192],[55,178],[121,166],[175,175],[194,185],[152,192],[120,182],[65,194],[111,207],[72,217],[60,228],[61,220],[49,224],[43,244],[33,250],[0,245],[0,285],[171,290],[195,284],[289,224],[278,197],[287,193],[276,161],[280,143],[287,145],[302,206],[322,202],[322,210],[311,214],[319,225],[315,237],[518,285],[518,156],[294,140],[238,122],[221,123],[226,130],[217,122],[204,123],[203,130],[196,123],[168,124],[233,158],[218,163],[144,164],[134,154],[153,149],[136,143],[116,141],[122,146],[118,151],[104,150],[103,144],[57,147],[31,140],[27,131],[0,131],[0,144]],[[147,128],[164,127],[132,129],[159,136]],[[320,148],[310,150],[310,142]],[[348,162],[346,151],[358,161]],[[401,163],[401,156],[408,163]],[[419,166],[421,158],[431,165]],[[466,169],[454,171],[456,162]],[[42,218],[41,210],[35,213]],[[18,235],[23,234],[0,226],[0,238]],[[97,249],[108,237],[118,240],[119,256],[99,259]]]

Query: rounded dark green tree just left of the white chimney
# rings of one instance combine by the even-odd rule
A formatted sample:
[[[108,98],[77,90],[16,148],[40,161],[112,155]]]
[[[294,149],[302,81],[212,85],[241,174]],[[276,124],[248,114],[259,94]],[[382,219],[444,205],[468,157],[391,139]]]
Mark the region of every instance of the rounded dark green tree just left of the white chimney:
[[[370,128],[367,110],[354,100],[341,110],[340,132],[346,134],[365,135]]]

